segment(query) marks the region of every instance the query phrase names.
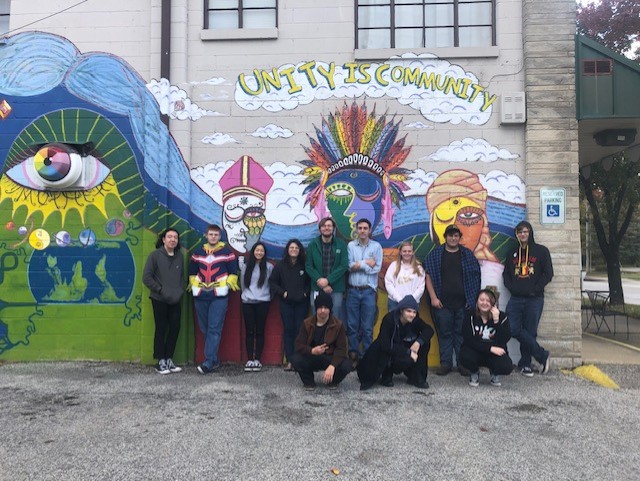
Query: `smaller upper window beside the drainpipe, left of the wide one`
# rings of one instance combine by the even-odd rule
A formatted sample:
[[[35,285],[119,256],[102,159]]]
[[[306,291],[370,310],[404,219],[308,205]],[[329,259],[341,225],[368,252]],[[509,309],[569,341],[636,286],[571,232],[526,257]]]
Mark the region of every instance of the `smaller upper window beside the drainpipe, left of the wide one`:
[[[204,28],[274,28],[278,0],[205,0]]]

